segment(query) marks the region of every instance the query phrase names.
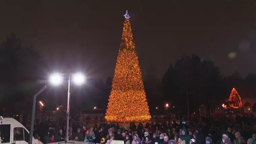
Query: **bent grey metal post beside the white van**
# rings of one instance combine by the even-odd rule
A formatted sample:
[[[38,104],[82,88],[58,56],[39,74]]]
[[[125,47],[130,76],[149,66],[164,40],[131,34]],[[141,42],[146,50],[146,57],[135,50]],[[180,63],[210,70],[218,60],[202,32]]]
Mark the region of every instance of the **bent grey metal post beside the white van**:
[[[36,97],[39,94],[41,94],[45,89],[46,89],[46,86],[44,86],[39,92],[37,92],[34,95],[34,98],[33,98],[33,107],[32,107],[32,112],[31,112],[31,116],[30,116],[30,131],[29,131],[29,141],[28,141],[29,144],[32,144],[32,138],[33,138],[34,120],[35,120],[35,108],[36,108]],[[40,104],[43,105],[42,102]]]

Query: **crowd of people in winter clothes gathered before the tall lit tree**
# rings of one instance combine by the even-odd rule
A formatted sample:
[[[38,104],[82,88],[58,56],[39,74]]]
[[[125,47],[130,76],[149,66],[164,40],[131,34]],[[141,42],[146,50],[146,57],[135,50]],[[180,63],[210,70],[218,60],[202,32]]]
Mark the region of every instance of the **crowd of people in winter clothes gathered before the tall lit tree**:
[[[216,120],[213,117],[192,117],[190,122],[151,122],[136,126],[119,123],[100,123],[87,127],[76,123],[69,127],[69,140],[110,144],[113,140],[123,140],[125,144],[256,144],[255,118],[236,116],[229,120],[226,116]],[[37,130],[35,130],[37,131]],[[43,136],[43,143],[65,141],[66,128],[60,124],[59,132],[49,127]],[[40,138],[42,136],[35,137]],[[43,134],[41,134],[43,135]]]

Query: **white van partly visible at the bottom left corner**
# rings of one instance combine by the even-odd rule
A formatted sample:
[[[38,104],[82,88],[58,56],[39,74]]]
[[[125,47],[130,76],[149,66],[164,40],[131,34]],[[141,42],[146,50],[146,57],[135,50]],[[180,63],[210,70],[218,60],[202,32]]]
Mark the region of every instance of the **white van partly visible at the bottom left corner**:
[[[28,144],[29,131],[16,119],[4,117],[0,123],[1,143]],[[33,137],[32,144],[43,144]]]

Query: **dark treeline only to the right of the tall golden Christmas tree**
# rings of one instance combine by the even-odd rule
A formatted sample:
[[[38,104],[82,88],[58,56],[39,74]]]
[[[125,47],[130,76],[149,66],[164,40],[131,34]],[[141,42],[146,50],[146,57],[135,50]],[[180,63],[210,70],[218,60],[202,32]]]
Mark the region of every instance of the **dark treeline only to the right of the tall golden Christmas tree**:
[[[171,64],[159,81],[154,80],[152,73],[145,78],[145,90],[153,113],[156,107],[157,111],[163,112],[165,103],[168,103],[169,111],[187,115],[187,100],[190,113],[198,113],[202,105],[206,109],[221,107],[233,87],[242,99],[255,97],[256,75],[248,74],[242,78],[235,72],[224,76],[213,61],[203,60],[194,54],[183,56]]]

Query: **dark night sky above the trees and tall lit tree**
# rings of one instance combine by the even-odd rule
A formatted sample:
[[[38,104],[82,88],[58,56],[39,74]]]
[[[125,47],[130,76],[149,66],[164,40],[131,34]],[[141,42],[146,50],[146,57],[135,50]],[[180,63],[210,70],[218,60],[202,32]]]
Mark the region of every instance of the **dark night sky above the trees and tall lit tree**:
[[[126,9],[142,75],[154,67],[161,78],[192,53],[225,75],[256,71],[255,0],[1,0],[0,40],[13,32],[50,69],[105,80],[114,74]]]

